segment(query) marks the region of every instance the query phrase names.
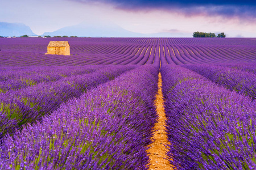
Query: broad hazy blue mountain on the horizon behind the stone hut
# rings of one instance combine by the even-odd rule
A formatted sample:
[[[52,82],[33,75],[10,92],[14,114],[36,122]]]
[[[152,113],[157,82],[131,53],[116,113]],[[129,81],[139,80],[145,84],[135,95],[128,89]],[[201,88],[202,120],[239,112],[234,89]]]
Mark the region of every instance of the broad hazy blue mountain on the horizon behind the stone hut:
[[[82,22],[77,25],[60,28],[54,32],[45,32],[42,36],[78,36],[78,37],[144,37],[143,33],[127,31],[114,23]]]

